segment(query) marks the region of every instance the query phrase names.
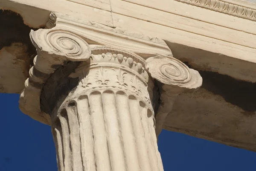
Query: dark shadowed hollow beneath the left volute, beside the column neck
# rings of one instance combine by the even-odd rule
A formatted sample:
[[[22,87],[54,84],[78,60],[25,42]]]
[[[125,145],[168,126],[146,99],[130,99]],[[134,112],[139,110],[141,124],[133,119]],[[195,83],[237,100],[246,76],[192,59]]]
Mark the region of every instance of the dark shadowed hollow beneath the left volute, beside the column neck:
[[[68,93],[79,83],[79,78],[68,77],[81,62],[69,61],[59,67],[44,84],[40,96],[41,110],[51,114],[57,103],[61,104]]]

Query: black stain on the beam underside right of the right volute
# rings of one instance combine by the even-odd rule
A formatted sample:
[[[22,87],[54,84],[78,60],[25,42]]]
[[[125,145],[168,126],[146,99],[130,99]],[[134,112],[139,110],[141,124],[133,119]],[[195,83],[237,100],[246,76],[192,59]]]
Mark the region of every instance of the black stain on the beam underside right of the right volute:
[[[189,68],[189,62],[183,62]],[[195,68],[196,70],[196,68]],[[218,72],[198,70],[203,78],[202,88],[222,96],[227,102],[244,110],[244,116],[255,115],[256,83],[237,80]]]

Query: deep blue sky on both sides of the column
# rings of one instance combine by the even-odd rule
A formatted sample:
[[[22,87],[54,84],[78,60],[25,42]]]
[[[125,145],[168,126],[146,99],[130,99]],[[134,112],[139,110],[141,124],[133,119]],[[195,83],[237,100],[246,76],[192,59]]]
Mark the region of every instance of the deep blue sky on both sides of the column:
[[[19,95],[0,93],[0,171],[57,171],[49,126],[18,108]],[[163,130],[165,171],[256,171],[256,153]]]

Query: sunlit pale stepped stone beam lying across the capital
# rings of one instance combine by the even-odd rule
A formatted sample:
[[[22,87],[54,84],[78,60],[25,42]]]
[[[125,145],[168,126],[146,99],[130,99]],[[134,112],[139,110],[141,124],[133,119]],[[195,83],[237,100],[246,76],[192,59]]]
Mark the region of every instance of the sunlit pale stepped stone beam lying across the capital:
[[[242,15],[234,16],[175,0],[161,0],[160,2],[157,0],[140,0],[138,2],[137,0],[111,0],[109,3],[111,12],[108,11],[109,6],[105,1],[103,3],[98,0],[93,1],[94,3],[90,0],[81,3],[77,3],[79,0],[73,1],[76,2],[44,0],[37,3],[31,0],[3,0],[0,7],[16,10],[24,16],[24,22],[27,25],[34,24],[32,27],[45,25],[49,13],[56,11],[111,27],[119,26],[130,31],[143,32],[145,35],[178,43],[183,47],[203,49],[231,58],[255,62],[254,28],[256,22],[242,17],[243,15],[255,16],[255,4],[239,0],[226,0],[225,6],[229,4],[240,6],[239,9],[231,12],[239,12]],[[208,2],[207,0],[205,6],[209,4]],[[166,6],[166,4],[169,5]],[[34,15],[29,15],[29,11],[32,9],[37,9],[37,12],[33,12]],[[46,10],[48,13],[45,13]],[[35,14],[38,15],[36,20]]]

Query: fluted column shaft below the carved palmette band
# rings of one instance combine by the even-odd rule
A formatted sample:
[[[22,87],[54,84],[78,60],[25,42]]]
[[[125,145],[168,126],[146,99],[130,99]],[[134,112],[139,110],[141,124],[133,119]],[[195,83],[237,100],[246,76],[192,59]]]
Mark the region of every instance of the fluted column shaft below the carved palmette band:
[[[122,91],[79,96],[61,109],[53,127],[59,170],[160,171],[153,116],[143,101]]]

